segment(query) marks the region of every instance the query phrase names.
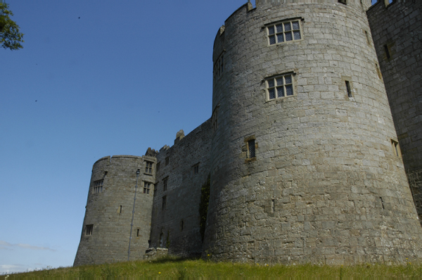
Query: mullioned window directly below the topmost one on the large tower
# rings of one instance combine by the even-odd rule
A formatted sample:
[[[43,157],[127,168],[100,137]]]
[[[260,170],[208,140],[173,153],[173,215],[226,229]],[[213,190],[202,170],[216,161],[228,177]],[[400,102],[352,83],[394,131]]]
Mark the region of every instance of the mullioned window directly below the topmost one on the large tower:
[[[293,77],[291,74],[265,79],[267,100],[293,96]]]

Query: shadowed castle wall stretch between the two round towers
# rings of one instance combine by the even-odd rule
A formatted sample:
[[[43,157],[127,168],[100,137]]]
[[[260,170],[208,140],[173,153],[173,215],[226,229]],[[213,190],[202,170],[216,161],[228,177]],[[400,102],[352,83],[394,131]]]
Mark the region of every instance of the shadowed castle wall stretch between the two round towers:
[[[160,170],[157,171],[154,192],[151,247],[168,247],[173,255],[197,256],[202,253],[200,190],[210,174],[211,132],[211,120],[207,120],[184,138],[177,139],[171,148],[160,150],[157,156]]]

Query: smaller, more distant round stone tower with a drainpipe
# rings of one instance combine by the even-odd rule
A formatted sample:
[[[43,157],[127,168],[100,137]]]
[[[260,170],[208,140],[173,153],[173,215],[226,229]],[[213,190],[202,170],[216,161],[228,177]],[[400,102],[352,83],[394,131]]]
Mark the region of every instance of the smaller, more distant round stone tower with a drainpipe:
[[[146,162],[153,163],[148,172]],[[127,260],[138,169],[130,260],[142,259],[148,248],[153,205],[153,189],[143,193],[143,186],[150,182],[152,188],[155,182],[155,158],[114,155],[97,160],[92,168],[75,266]]]

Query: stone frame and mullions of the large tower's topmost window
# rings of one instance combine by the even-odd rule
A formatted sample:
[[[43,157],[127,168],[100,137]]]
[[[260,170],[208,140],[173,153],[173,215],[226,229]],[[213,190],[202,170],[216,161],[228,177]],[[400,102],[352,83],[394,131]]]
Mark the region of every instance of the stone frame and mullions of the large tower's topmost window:
[[[265,30],[267,32],[267,44],[268,46],[275,46],[275,45],[279,45],[279,44],[283,44],[283,43],[288,43],[288,42],[296,42],[296,41],[301,41],[303,39],[303,32],[302,32],[302,20],[303,18],[286,18],[284,20],[279,20],[276,21],[274,23],[268,23],[266,25],[264,25]],[[293,23],[298,22],[299,24],[299,28],[298,29],[293,29]],[[289,23],[289,28],[290,30],[286,30],[286,23]],[[282,30],[279,30],[279,26],[282,27]],[[271,28],[273,30],[273,33],[270,33]],[[291,34],[291,39],[290,40],[286,40],[286,34],[289,33]],[[299,32],[299,39],[295,39],[295,32]],[[279,35],[283,34],[283,41],[279,42]],[[274,37],[274,43],[271,44],[271,37]]]

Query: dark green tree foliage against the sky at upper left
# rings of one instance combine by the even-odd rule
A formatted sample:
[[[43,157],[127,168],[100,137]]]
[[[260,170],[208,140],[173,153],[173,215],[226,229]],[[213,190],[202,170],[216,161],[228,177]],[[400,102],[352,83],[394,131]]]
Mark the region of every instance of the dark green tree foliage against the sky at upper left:
[[[1,0],[0,0],[1,1]],[[22,49],[23,33],[19,32],[17,25],[10,16],[13,15],[8,10],[8,4],[0,2],[0,44],[4,49]]]

